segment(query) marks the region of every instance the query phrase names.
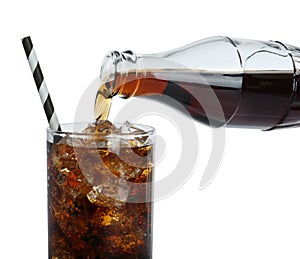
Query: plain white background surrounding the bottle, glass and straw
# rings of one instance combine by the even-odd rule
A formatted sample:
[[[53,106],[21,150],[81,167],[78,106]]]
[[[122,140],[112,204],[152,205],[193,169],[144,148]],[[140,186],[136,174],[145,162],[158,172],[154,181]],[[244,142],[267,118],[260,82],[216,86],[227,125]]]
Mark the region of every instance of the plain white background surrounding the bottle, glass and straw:
[[[3,2],[1,258],[47,258],[47,121],[22,37],[32,37],[61,122],[73,120],[81,94],[110,50],[153,53],[214,35],[300,46],[297,1]],[[116,101],[114,113],[121,105]],[[159,120],[154,126],[161,136],[168,135]],[[154,258],[299,258],[299,129],[228,129],[218,175],[200,191],[211,131],[196,127],[200,154],[193,176],[155,204]],[[173,155],[176,149],[167,143],[170,166]],[[164,168],[161,162],[156,175]]]

